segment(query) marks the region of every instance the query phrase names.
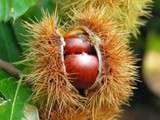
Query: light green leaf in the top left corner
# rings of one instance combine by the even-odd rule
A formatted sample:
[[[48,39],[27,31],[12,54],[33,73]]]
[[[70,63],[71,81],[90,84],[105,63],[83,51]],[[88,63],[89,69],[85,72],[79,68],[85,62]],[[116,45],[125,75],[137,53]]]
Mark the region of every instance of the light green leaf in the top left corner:
[[[0,21],[14,20],[23,15],[38,0],[0,0]]]

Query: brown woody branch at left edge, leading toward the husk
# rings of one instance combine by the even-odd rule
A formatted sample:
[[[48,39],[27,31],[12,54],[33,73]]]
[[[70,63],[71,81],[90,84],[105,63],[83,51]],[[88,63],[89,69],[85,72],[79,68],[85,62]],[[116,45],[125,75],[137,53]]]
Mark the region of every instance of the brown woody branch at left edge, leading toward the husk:
[[[12,76],[20,77],[21,71],[15,68],[12,64],[0,59],[0,69],[3,69]]]

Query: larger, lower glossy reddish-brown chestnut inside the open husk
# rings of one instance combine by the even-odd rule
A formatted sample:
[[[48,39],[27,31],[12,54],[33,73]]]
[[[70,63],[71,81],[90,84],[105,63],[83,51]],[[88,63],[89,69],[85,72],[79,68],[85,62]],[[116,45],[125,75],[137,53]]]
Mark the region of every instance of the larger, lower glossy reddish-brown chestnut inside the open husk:
[[[98,59],[87,53],[68,55],[65,58],[66,71],[77,89],[87,89],[96,81]]]

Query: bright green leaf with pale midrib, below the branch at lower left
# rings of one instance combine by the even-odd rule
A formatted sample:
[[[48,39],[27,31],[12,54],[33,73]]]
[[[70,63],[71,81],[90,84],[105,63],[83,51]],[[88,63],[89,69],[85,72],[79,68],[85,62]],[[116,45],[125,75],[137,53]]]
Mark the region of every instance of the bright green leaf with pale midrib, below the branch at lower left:
[[[0,81],[0,93],[4,99],[0,103],[0,118],[3,120],[21,120],[24,116],[24,105],[28,103],[31,91],[21,82],[22,79],[17,84],[14,78]]]

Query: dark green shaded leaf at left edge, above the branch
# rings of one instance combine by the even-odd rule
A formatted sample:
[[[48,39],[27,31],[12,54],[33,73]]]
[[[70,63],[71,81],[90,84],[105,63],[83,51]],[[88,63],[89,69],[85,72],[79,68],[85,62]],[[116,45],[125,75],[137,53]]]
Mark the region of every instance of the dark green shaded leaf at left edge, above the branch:
[[[8,62],[19,59],[20,48],[16,41],[11,24],[0,22],[0,58]]]

